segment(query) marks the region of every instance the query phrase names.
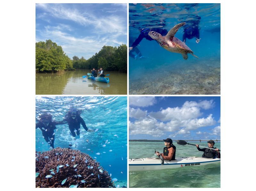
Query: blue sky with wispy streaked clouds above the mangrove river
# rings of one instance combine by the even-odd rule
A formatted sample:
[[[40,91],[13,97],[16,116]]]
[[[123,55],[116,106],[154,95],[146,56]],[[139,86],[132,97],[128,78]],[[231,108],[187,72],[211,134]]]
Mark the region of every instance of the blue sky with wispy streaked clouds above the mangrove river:
[[[36,42],[48,39],[71,59],[127,44],[127,4],[36,4]]]

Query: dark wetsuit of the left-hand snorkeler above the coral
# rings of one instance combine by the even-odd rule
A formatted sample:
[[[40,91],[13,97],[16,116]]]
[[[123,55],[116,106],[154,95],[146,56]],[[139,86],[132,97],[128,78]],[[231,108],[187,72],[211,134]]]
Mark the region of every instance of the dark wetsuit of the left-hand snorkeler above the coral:
[[[54,129],[56,128],[56,125],[61,125],[61,124],[66,124],[67,122],[63,122],[63,121],[50,121],[48,126],[44,126],[44,124],[39,121],[38,123],[36,123],[36,129],[39,128],[42,131],[42,134],[44,136],[44,140],[50,144],[50,146],[52,148],[54,148],[54,139],[55,139],[55,135],[54,135]],[[44,129],[43,129],[44,128]]]

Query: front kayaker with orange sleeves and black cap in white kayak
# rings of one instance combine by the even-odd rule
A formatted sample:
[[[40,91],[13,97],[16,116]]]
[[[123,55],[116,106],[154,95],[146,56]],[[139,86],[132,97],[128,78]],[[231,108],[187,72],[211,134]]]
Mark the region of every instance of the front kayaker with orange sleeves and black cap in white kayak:
[[[164,140],[164,152],[159,153],[156,151],[157,156],[162,156],[164,160],[175,160],[176,147],[172,144],[172,139],[163,139]]]

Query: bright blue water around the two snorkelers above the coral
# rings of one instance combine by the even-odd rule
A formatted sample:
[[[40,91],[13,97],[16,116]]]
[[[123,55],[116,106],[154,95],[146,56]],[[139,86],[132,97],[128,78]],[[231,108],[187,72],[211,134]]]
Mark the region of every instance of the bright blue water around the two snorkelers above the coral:
[[[71,107],[83,110],[81,117],[89,129],[99,130],[89,133],[81,127],[80,139],[74,141],[69,135],[68,125],[57,125],[55,148],[68,148],[68,145],[72,144],[72,149],[87,153],[92,158],[97,157],[96,160],[100,165],[112,174],[112,178],[118,180],[116,185],[127,187],[127,98],[38,96],[36,122],[39,114],[45,112],[52,114],[56,121],[61,121]],[[86,141],[87,139],[89,142]],[[102,147],[106,140],[110,143]],[[36,151],[46,150],[49,150],[49,146],[43,138],[42,131],[36,129]],[[96,155],[98,152],[101,154]]]

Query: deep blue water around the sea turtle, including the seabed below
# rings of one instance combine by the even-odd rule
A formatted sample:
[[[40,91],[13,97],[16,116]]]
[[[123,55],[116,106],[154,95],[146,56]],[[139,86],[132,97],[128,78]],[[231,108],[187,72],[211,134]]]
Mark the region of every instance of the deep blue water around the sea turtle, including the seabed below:
[[[129,47],[140,28],[169,31],[180,22],[198,26],[200,42],[186,45],[199,59],[184,60],[144,38],[137,48],[147,58],[129,57],[130,94],[220,94],[220,4],[129,4]],[[183,33],[181,27],[175,37],[182,40]]]

